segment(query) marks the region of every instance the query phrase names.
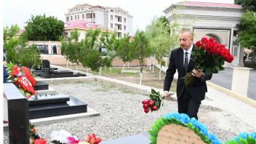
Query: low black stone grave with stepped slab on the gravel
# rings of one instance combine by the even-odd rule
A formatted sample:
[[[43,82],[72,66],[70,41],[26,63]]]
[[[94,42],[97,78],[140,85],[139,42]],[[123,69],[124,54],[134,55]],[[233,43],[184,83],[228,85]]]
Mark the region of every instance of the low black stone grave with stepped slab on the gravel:
[[[87,103],[63,94],[33,95],[28,99],[29,119],[87,113]]]

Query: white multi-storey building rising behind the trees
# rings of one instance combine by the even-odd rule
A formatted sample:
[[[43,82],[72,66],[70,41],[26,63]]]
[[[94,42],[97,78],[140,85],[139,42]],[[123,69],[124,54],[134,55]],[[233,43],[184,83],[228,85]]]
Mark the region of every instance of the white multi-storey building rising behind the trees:
[[[102,25],[108,30],[117,32],[121,37],[132,33],[132,15],[119,7],[92,6],[77,4],[65,13],[66,22],[86,20],[90,23]]]

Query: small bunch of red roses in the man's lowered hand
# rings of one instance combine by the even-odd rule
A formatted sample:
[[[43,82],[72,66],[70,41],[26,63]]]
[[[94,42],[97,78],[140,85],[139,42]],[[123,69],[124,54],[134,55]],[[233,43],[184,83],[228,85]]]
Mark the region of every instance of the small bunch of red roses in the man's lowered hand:
[[[150,97],[150,99],[142,101],[144,112],[148,113],[149,111],[153,112],[159,110],[161,105],[163,105],[163,98],[160,96],[160,93],[156,92],[155,89],[151,89],[151,93],[148,97]]]

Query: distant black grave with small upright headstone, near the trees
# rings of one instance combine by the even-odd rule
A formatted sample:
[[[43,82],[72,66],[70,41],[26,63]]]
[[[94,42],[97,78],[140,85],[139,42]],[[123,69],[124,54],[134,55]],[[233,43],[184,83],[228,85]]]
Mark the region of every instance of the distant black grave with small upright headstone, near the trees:
[[[57,68],[50,68],[49,60],[42,60],[41,70],[34,70],[33,73],[35,73],[36,76],[40,76],[44,79],[87,76],[84,73],[74,73],[73,71],[57,70]]]

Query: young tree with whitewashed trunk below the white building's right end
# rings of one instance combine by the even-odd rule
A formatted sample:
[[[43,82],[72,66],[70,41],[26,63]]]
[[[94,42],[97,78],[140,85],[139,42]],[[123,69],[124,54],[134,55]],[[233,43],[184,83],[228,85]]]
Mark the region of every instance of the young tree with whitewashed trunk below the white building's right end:
[[[123,60],[124,66],[126,62],[131,62],[135,56],[132,55],[131,43],[129,41],[129,36],[124,36],[118,41],[118,47],[116,49],[116,55]],[[122,69],[122,73],[124,71],[124,67]]]

